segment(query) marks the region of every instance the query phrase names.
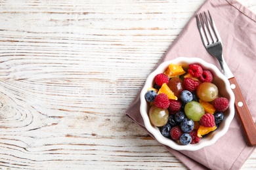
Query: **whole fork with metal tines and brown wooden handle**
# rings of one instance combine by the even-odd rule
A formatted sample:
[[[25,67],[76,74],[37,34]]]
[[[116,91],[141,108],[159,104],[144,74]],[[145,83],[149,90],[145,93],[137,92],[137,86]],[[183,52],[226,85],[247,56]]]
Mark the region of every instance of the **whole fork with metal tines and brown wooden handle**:
[[[223,58],[223,45],[221,41],[221,36],[217,31],[217,27],[213,22],[213,18],[211,18],[211,14],[208,10],[208,16],[206,12],[200,13],[196,15],[196,22],[198,24],[198,29],[200,32],[200,37],[202,39],[203,45],[205,46],[207,52],[218,59],[221,70],[223,71],[223,75],[225,75],[229,82],[230,88],[232,88],[235,95],[235,106],[238,112],[238,116],[244,126],[244,130],[246,133],[247,141],[250,146],[256,145],[256,126],[249,109],[245,103],[244,97],[240,92],[240,88],[238,83],[236,82],[236,78],[226,65],[226,62]]]

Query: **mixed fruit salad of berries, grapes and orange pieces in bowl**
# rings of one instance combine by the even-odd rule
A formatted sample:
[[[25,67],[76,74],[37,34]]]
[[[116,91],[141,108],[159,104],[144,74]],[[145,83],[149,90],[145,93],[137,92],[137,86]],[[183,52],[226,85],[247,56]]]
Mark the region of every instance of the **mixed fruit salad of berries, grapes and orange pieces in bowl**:
[[[212,81],[213,73],[201,65],[190,64],[185,71],[171,63],[144,95],[151,124],[179,144],[199,143],[223,122],[229,106]]]

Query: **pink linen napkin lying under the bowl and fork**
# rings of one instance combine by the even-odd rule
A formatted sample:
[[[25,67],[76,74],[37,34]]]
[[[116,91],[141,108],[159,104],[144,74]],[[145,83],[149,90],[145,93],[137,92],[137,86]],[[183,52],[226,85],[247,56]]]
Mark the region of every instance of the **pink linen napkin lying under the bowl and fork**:
[[[255,120],[256,15],[235,0],[205,1],[196,14],[207,10],[211,12],[221,35],[224,59],[236,77],[247,107]],[[208,54],[202,44],[195,16],[190,19],[179,37],[171,44],[158,65],[180,56],[202,58],[219,67],[217,59]],[[146,130],[139,107],[138,94],[125,114]],[[240,169],[255,149],[255,147],[247,146],[244,130],[237,115],[232,120],[226,135],[211,146],[193,152],[177,151],[168,146],[165,148],[189,169]]]

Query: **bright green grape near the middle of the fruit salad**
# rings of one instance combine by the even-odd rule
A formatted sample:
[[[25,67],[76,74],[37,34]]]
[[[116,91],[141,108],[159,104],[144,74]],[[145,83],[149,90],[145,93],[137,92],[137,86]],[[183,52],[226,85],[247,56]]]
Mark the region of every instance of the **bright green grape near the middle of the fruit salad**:
[[[190,101],[189,103],[186,103],[184,111],[186,116],[193,121],[199,121],[205,113],[202,105],[197,101]]]

